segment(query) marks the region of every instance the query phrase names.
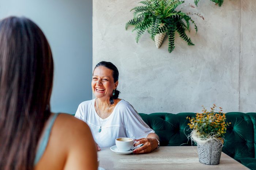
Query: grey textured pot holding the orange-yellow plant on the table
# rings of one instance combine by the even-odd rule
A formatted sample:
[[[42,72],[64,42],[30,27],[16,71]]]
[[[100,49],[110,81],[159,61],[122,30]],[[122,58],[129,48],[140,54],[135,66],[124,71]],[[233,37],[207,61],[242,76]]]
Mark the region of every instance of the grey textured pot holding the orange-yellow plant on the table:
[[[199,162],[206,165],[217,165],[221,158],[222,142],[211,139],[206,143],[197,143]]]

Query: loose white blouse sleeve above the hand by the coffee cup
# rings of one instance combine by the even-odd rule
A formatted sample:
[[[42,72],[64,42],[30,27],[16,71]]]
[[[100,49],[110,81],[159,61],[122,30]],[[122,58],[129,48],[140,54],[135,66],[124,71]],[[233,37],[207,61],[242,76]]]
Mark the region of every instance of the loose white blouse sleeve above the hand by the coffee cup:
[[[148,134],[155,133],[140,117],[139,113],[127,102],[124,109],[124,125],[129,138],[146,138]]]

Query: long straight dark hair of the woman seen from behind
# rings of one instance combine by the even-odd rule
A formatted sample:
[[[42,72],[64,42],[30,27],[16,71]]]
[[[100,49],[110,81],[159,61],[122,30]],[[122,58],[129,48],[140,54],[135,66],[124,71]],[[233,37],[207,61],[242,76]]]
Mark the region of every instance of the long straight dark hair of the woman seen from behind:
[[[34,169],[37,144],[50,116],[52,82],[52,53],[40,28],[27,18],[1,20],[1,170]]]

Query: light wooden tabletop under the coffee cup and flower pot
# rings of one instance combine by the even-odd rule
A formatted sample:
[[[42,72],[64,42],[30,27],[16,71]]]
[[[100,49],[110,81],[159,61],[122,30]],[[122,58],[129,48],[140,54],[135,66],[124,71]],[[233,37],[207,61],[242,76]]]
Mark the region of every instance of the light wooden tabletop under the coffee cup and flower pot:
[[[99,166],[106,170],[248,169],[223,152],[219,165],[202,164],[196,146],[162,146],[148,154],[129,155],[119,155],[110,148],[101,148],[98,158]]]

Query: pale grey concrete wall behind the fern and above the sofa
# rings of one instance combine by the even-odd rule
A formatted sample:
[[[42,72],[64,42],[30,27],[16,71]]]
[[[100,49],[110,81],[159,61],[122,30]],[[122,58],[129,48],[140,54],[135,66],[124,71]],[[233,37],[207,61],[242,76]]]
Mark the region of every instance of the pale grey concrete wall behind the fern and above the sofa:
[[[135,32],[125,31],[139,1],[93,1],[93,67],[102,60],[118,67],[120,98],[143,113],[199,112],[213,103],[224,112],[256,112],[255,0],[225,0],[222,7],[201,0],[195,10],[184,8],[205,20],[192,16],[195,46],[176,34],[171,54],[167,39],[156,49],[148,34],[136,44]]]

